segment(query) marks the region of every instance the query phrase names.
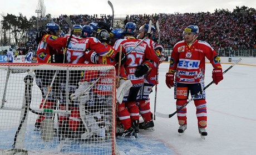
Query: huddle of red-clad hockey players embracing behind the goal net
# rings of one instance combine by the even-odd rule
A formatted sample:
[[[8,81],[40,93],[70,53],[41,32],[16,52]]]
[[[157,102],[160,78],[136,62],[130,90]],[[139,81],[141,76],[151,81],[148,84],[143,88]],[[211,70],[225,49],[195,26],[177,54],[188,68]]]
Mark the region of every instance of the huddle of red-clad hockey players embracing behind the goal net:
[[[149,28],[151,31],[147,34]],[[122,130],[116,130],[117,137],[122,139],[126,136],[137,137],[140,130],[154,130],[149,94],[152,86],[156,84],[158,65],[164,60],[161,54],[163,46],[155,44],[150,39],[156,30],[155,27],[149,24],[142,25],[137,37],[135,36],[136,24],[132,22],[128,22],[125,29],[112,29],[103,22],[90,23],[83,27],[75,24],[73,35],[67,34],[64,37],[59,37],[60,30],[58,24],[48,23],[45,29],[38,33],[38,63],[114,65],[118,73],[117,86],[126,85],[125,91],[120,90],[121,92],[117,87],[117,94],[121,98],[117,95],[116,114],[117,121],[122,126]],[[100,123],[92,127],[93,123],[90,121],[96,121],[95,116],[104,115],[104,112],[102,114],[102,111],[97,111],[97,106],[102,103],[107,104],[108,101],[102,99],[102,96],[106,96],[109,94],[108,91],[114,91],[116,88],[100,90],[90,86],[93,82],[97,82],[93,80],[99,74],[103,76],[101,79],[108,78],[104,77],[104,71],[100,72],[71,71],[71,77],[68,80],[69,88],[66,90],[65,71],[35,71],[36,84],[42,92],[40,108],[56,109],[58,107],[59,110],[66,110],[66,108],[71,110],[70,115],[58,113],[59,131],[64,135],[76,137],[85,132],[81,130],[83,126],[90,124],[90,130],[98,131],[93,136],[104,136],[106,131],[100,130]],[[88,87],[90,91],[85,92],[84,90]],[[64,100],[66,91],[69,92],[68,107]],[[88,108],[88,105],[93,108]],[[105,115],[106,113],[107,111]],[[144,122],[139,122],[140,115]],[[35,131],[40,131],[43,120],[45,116],[38,115]]]

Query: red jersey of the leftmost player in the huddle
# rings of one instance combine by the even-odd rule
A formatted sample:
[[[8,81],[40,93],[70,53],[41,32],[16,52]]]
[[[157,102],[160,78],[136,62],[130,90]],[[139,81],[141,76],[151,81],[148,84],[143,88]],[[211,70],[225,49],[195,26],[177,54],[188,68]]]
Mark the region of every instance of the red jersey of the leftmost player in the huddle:
[[[44,35],[37,47],[37,63],[50,63],[51,55],[62,54],[62,48],[65,48],[66,44],[67,38]]]

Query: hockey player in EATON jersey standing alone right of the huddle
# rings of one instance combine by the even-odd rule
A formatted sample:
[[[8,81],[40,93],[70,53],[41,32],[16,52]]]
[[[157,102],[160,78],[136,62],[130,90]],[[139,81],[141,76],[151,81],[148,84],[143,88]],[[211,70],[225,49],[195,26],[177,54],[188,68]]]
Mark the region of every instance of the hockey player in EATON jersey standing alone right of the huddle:
[[[174,45],[171,53],[170,67],[166,73],[166,85],[174,86],[174,98],[176,108],[183,106],[189,96],[196,96],[194,104],[196,117],[198,118],[198,130],[201,136],[207,136],[206,100],[204,88],[205,57],[213,65],[213,81],[217,85],[223,80],[223,73],[219,55],[211,46],[201,40],[197,40],[199,28],[197,25],[189,25],[184,29],[184,40]],[[175,82],[174,82],[175,81]],[[200,95],[197,95],[200,92]],[[177,112],[179,121],[179,133],[184,133],[187,128],[186,107]]]

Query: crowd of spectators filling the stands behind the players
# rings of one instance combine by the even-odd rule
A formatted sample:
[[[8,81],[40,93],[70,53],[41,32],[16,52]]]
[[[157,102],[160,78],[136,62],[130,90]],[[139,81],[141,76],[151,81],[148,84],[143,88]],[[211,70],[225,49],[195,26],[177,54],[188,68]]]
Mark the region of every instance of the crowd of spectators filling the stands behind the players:
[[[97,15],[72,15],[69,16],[73,24],[89,24],[91,22],[106,22],[110,25],[111,16]],[[175,13],[175,14],[136,14],[127,16],[124,24],[134,22],[137,29],[141,25],[148,23],[149,20],[155,25],[159,20],[161,44],[164,48],[173,48],[175,43],[183,39],[182,33],[185,27],[190,24],[199,26],[199,39],[208,42],[216,51],[250,49],[255,48],[255,19],[253,14],[236,14],[228,11],[216,11],[214,13]],[[68,33],[68,25],[65,16],[52,18],[52,22],[60,25],[63,32]],[[43,27],[42,27],[43,28]],[[138,30],[137,30],[138,32]],[[37,30],[33,28],[28,31],[27,45],[36,48],[35,38]],[[158,34],[154,34],[153,39],[157,41]]]

